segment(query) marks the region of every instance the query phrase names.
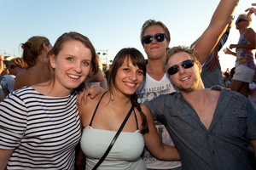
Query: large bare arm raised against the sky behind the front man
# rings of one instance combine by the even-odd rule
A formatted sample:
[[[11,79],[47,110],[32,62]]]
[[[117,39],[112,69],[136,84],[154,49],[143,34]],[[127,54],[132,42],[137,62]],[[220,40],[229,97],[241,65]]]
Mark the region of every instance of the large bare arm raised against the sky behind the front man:
[[[207,30],[203,32],[195,44],[195,50],[199,54],[201,64],[207,60],[219,38],[224,34],[238,2],[239,0],[221,0],[218,4]]]

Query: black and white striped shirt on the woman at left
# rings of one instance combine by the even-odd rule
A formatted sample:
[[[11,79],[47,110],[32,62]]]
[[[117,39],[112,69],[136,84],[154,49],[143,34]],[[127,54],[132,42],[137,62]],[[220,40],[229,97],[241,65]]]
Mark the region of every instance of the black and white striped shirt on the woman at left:
[[[51,97],[21,88],[0,103],[0,149],[8,169],[73,169],[80,140],[76,94]]]

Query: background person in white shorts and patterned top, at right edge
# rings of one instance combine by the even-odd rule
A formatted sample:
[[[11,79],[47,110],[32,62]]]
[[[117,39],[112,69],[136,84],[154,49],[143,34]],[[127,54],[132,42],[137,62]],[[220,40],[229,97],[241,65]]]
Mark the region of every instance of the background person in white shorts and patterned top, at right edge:
[[[248,28],[252,18],[247,19],[247,14],[240,14],[236,20],[236,29],[240,33],[237,44],[230,44],[230,48],[224,49],[224,54],[236,56],[236,73],[232,79],[230,89],[248,96],[249,83],[253,82],[256,66],[254,64],[253,52],[255,47],[256,33]],[[236,48],[236,52],[231,49]]]

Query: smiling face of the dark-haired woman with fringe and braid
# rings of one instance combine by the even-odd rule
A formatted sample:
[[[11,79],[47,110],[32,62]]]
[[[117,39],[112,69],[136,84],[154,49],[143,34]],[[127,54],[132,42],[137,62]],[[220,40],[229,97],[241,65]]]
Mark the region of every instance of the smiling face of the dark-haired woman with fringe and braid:
[[[115,91],[125,95],[134,94],[143,82],[143,70],[133,65],[129,57],[125,58],[115,77]]]

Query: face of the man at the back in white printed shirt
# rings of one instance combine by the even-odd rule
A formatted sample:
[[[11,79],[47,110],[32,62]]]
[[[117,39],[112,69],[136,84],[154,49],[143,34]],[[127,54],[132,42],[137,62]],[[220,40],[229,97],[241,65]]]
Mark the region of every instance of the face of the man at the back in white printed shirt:
[[[158,33],[165,33],[162,26],[149,26],[144,33],[144,36],[154,36]],[[148,55],[148,59],[163,59],[166,54],[166,48],[169,46],[167,39],[163,42],[157,42],[154,38],[151,43],[143,44],[143,48]]]

